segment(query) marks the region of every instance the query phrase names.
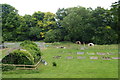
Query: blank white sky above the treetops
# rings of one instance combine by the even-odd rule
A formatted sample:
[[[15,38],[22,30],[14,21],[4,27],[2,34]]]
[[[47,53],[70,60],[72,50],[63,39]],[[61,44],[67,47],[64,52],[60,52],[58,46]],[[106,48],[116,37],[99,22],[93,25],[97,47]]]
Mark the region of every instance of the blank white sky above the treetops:
[[[116,1],[118,0],[0,0],[0,4],[10,4],[18,10],[20,15],[32,15],[37,11],[56,13],[58,8],[75,6],[91,7],[93,9],[101,6],[110,9],[112,3]]]

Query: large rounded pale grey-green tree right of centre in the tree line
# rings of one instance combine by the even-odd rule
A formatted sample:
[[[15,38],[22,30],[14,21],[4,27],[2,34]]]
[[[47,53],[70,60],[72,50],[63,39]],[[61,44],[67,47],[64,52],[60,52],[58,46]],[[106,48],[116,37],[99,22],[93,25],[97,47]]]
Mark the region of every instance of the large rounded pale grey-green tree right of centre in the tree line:
[[[91,41],[93,33],[92,27],[89,23],[89,10],[85,9],[84,7],[74,7],[69,8],[68,12],[69,14],[62,21],[62,26],[68,33],[65,37],[65,40],[80,40],[86,42]],[[87,31],[90,32],[88,33]]]

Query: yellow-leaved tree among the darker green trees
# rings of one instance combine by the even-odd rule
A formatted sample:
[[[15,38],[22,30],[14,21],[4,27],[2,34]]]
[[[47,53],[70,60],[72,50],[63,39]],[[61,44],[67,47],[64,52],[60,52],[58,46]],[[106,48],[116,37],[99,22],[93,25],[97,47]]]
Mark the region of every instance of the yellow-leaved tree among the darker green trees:
[[[45,34],[49,30],[56,28],[55,14],[47,12],[44,13],[42,20],[37,20],[37,26],[41,29],[40,37],[44,39]]]

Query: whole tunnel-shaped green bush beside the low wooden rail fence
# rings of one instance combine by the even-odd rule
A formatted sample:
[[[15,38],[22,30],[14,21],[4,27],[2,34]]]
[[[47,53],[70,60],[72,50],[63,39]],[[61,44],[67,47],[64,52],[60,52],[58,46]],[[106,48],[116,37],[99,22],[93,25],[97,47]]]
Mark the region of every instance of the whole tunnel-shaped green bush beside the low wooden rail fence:
[[[21,49],[14,50],[2,59],[4,64],[33,65],[41,58],[41,51],[36,43],[24,41],[20,44]]]

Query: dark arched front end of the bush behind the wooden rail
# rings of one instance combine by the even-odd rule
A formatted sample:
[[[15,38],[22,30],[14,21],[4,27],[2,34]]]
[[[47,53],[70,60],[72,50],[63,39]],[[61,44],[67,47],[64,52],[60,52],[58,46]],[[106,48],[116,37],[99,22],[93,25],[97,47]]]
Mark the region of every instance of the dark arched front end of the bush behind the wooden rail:
[[[4,64],[34,64],[33,56],[26,50],[14,50],[2,59]]]

